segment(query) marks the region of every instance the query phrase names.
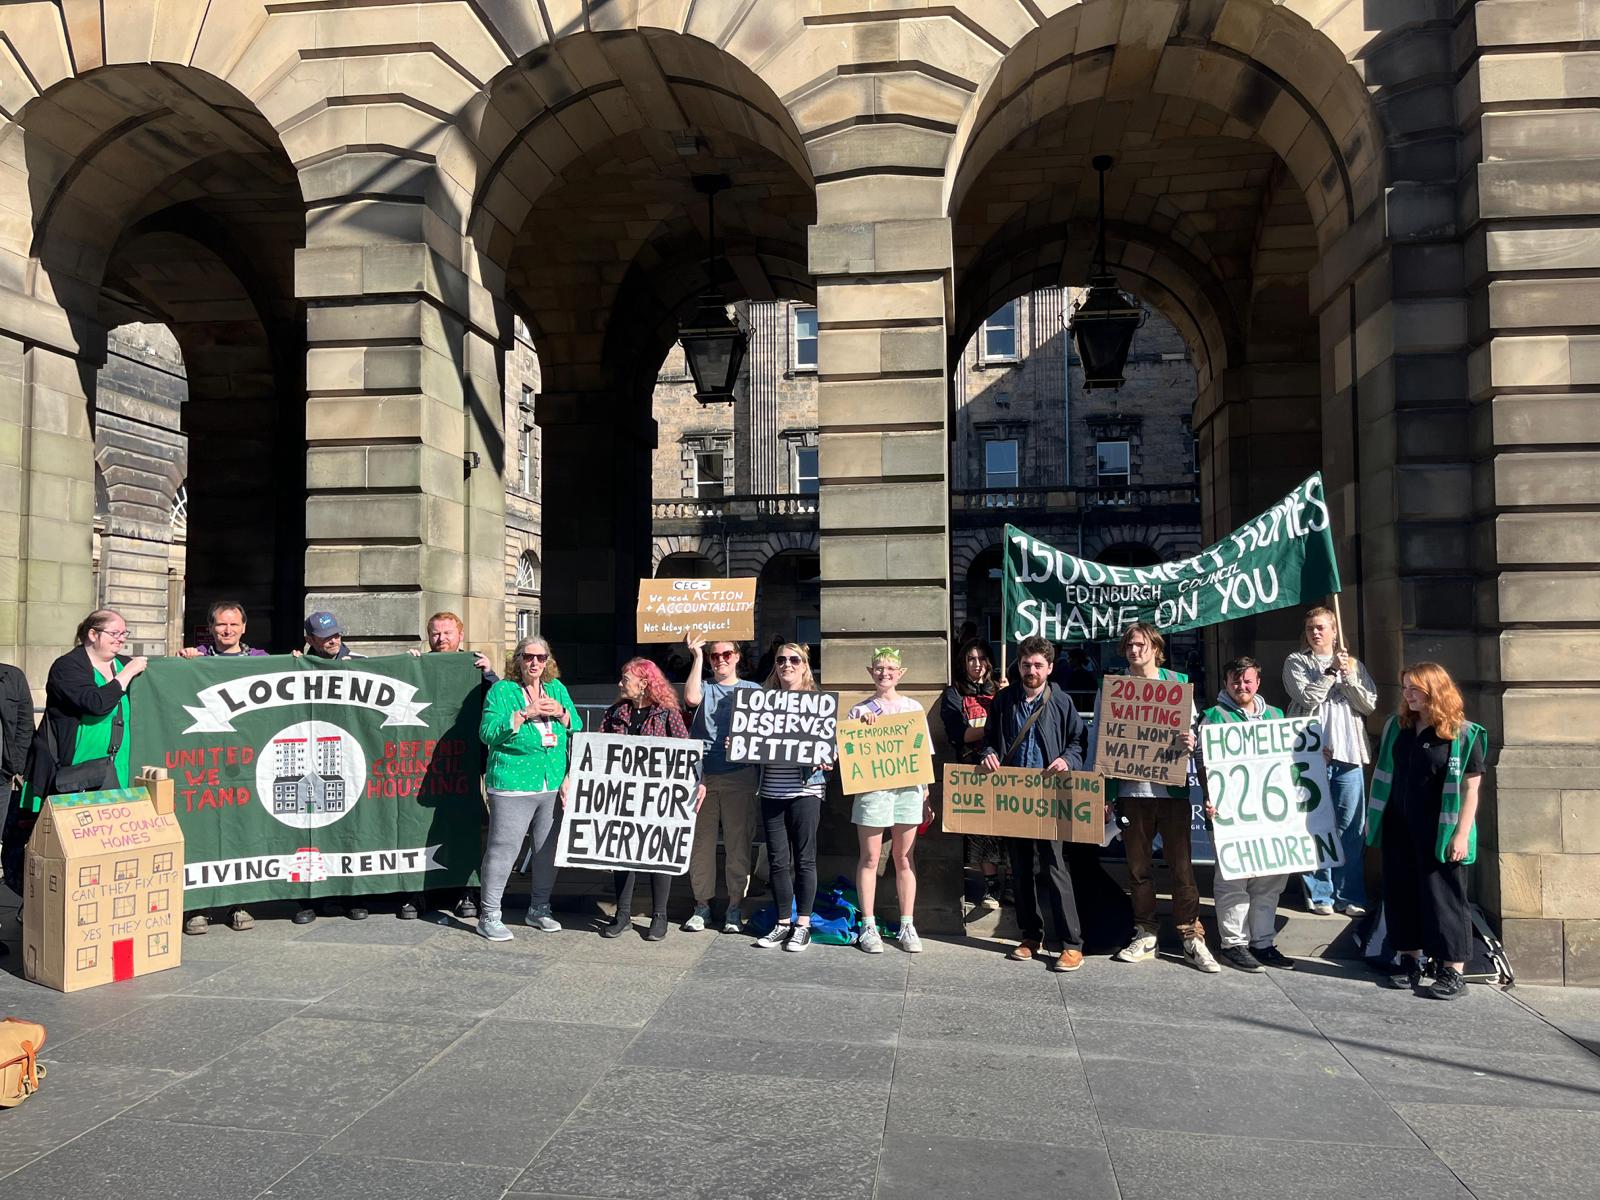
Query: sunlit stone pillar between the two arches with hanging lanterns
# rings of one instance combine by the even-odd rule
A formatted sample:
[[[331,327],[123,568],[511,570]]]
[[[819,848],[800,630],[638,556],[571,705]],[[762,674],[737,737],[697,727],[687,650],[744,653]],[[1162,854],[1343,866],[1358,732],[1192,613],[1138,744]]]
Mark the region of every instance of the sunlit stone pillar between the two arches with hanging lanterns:
[[[810,261],[819,330],[822,672],[845,698],[870,694],[872,646],[896,645],[906,656],[901,690],[931,717],[950,670],[952,246],[942,216],[894,211],[894,198],[915,198],[904,184],[854,179],[818,189]],[[960,930],[960,838],[926,843],[918,923]],[[848,869],[854,845],[848,813],[830,810],[822,850]]]

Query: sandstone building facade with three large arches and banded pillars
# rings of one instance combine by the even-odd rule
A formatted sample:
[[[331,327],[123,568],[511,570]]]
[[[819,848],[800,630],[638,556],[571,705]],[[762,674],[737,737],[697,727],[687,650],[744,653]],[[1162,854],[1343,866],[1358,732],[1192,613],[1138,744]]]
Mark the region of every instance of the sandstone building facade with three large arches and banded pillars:
[[[1110,154],[1107,259],[1197,374],[1203,536],[1322,467],[1384,702],[1438,659],[1490,726],[1475,880],[1520,974],[1600,982],[1589,0],[24,0],[0,30],[0,651],[30,677],[94,600],[131,320],[182,350],[190,595],[242,589],[272,642],[307,603],[366,648],[442,606],[504,629],[517,315],[539,619],[600,678],[651,568],[650,397],[715,283],[816,306],[822,643],[893,637],[931,694],[952,347],[1086,278]]]

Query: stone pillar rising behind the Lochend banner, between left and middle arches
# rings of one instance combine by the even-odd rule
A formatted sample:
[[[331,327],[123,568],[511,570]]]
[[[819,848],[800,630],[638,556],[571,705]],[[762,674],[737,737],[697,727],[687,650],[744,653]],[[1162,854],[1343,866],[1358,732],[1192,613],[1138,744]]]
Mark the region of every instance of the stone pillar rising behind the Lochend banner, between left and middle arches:
[[[338,229],[318,222],[322,237]],[[469,645],[498,651],[494,304],[426,243],[301,250],[296,290],[309,342],[306,608],[336,613],[365,653],[419,645],[427,616],[448,608]]]

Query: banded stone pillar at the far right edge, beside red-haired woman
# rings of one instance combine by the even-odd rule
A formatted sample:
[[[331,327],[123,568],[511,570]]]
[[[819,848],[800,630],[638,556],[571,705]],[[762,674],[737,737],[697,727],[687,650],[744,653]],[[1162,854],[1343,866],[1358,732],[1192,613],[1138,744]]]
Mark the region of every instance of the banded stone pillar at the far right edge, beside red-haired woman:
[[[1600,106],[1581,70],[1600,34],[1590,8],[1496,0],[1472,14],[1477,45],[1456,90],[1478,150],[1459,200],[1472,406],[1456,435],[1477,461],[1470,490],[1485,512],[1472,530],[1486,573],[1475,650],[1499,685],[1480,880],[1498,893],[1518,979],[1597,986]]]

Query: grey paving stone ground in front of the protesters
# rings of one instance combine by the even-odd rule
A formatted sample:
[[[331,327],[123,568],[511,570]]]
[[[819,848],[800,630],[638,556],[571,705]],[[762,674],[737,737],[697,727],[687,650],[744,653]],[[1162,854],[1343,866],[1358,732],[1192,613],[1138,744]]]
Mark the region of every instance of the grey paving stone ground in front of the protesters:
[[[48,1026],[48,1078],[0,1110],[0,1195],[1600,1194],[1595,992],[1446,1005],[1318,958],[1054,976],[997,941],[792,955],[558,915],[507,944],[264,918],[75,995],[13,952],[0,1014]]]

